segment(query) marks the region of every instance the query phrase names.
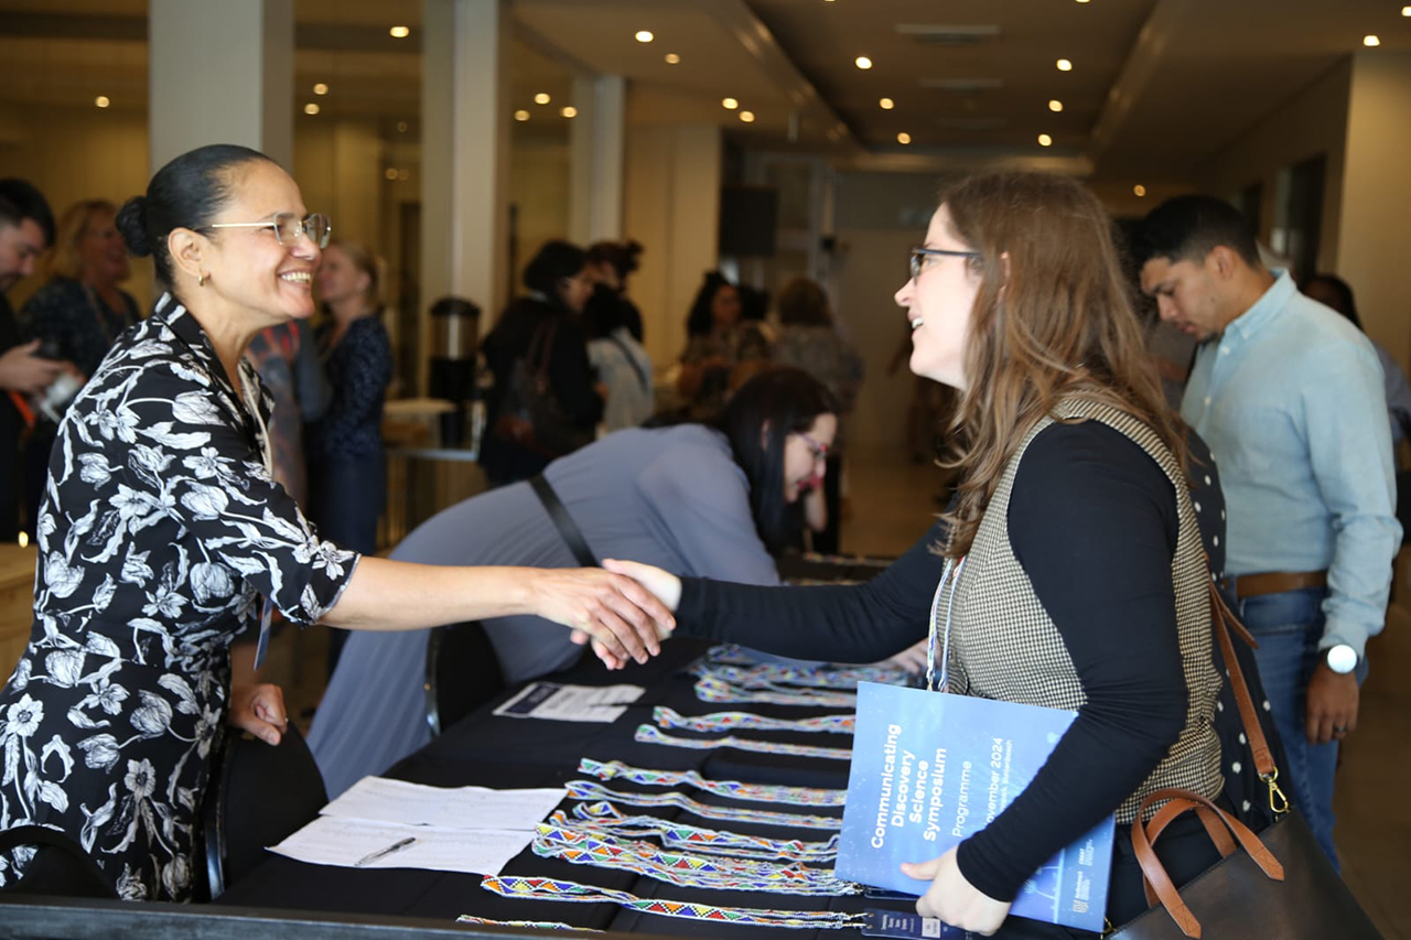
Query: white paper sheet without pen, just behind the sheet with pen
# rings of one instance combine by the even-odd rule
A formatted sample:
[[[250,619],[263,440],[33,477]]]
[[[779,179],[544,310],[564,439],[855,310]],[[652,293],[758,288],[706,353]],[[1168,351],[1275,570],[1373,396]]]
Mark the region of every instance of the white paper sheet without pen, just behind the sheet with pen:
[[[492,790],[426,786],[364,776],[323,807],[325,816],[442,828],[533,831],[564,797],[564,789]]]

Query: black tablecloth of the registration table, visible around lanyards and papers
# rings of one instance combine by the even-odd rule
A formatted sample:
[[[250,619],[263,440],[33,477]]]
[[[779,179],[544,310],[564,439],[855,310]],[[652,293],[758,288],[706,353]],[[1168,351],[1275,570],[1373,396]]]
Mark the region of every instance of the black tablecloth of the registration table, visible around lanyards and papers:
[[[643,686],[645,694],[626,711],[607,723],[550,721],[514,718],[492,714],[494,709],[511,697],[501,699],[473,713],[446,734],[432,741],[418,754],[394,766],[387,776],[429,783],[435,786],[480,785],[491,788],[562,786],[569,781],[587,779],[605,788],[626,792],[665,793],[679,790],[689,797],[715,806],[770,809],[817,816],[841,816],[841,807],[790,806],[782,803],[744,803],[714,796],[689,786],[639,786],[622,779],[597,781],[579,772],[580,758],[621,761],[638,768],[662,771],[697,771],[713,781],[744,781],[749,783],[783,783],[842,789],[847,786],[848,761],[832,758],[759,754],[734,748],[690,749],[653,742],[638,742],[638,725],[652,723],[655,706],[667,706],[683,716],[714,711],[752,711],[779,718],[809,718],[840,714],[851,710],[775,706],[763,703],[714,704],[701,701],[694,692],[694,676],[686,672],[707,649],[690,639],[665,644],[660,656],[652,662],[625,670],[607,672],[597,661],[584,659],[573,669],[550,682],[604,686],[629,683]],[[370,690],[375,694],[375,690]],[[670,731],[679,737],[724,737],[725,731],[694,734]],[[739,731],[739,737],[756,740],[847,748],[851,738],[828,733]],[[571,816],[577,800],[564,800],[560,809]],[[622,812],[653,814],[663,819],[717,830],[821,841],[837,830],[797,828],[746,824],[741,821],[698,819],[676,807],[635,807],[622,805]],[[467,834],[467,838],[474,838]],[[783,910],[840,910],[859,912],[865,908],[907,910],[906,902],[885,902],[852,896],[799,896],[790,893],[753,891],[687,889],[591,865],[577,865],[559,858],[540,858],[531,848],[516,855],[502,875],[546,876],[587,885],[626,891],[638,898],[660,898],[700,902],[731,908],[766,908]],[[222,905],[253,908],[288,908],[361,915],[395,915],[453,922],[459,915],[474,915],[495,920],[547,920],[576,927],[591,927],[612,933],[649,933],[658,936],[706,937],[854,937],[855,929],[818,930],[762,927],[737,923],[684,920],[652,913],[638,913],[615,903],[570,903],[552,900],[522,900],[501,898],[480,886],[480,875],[413,869],[356,869],[312,865],[271,854],[258,868],[233,885],[216,900]],[[474,930],[474,927],[467,927]]]

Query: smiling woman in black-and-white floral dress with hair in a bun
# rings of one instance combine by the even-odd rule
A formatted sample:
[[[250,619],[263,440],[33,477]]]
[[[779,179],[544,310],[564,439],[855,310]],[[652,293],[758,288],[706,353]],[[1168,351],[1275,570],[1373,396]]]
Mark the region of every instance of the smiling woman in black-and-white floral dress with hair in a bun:
[[[134,254],[154,255],[168,294],[59,426],[34,631],[0,692],[6,830],[69,836],[123,898],[189,899],[222,725],[270,744],[286,727],[275,686],[231,679],[231,638],[268,610],[257,594],[301,625],[536,614],[619,655],[659,649],[672,618],[625,577],[360,558],[319,539],[271,480],[268,398],[241,353],[258,330],[313,312],[329,234],[274,161],[233,145],[183,154],[119,226]],[[32,855],[0,854],[0,884]]]

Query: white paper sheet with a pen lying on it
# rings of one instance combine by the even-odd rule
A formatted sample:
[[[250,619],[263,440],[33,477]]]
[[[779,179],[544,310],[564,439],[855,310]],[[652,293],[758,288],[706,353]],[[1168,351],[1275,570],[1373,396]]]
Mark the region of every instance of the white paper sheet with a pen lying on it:
[[[360,860],[395,845],[416,841],[363,865]],[[420,868],[498,875],[525,850],[533,833],[494,828],[452,830],[432,826],[395,826],[357,819],[320,816],[270,851],[313,865],[341,868]]]

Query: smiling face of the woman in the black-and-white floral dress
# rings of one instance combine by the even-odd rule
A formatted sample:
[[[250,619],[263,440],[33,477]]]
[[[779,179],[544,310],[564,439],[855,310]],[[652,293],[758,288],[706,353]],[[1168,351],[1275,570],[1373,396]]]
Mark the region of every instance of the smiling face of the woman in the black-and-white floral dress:
[[[257,159],[234,171],[233,196],[212,222],[274,222],[275,213],[303,219],[299,186],[278,165]],[[281,244],[274,226],[214,229],[202,267],[205,288],[226,303],[277,322],[313,315],[313,272],[319,247],[308,233]]]

